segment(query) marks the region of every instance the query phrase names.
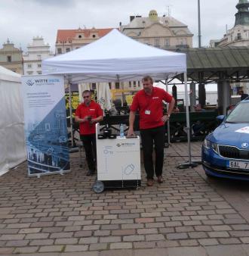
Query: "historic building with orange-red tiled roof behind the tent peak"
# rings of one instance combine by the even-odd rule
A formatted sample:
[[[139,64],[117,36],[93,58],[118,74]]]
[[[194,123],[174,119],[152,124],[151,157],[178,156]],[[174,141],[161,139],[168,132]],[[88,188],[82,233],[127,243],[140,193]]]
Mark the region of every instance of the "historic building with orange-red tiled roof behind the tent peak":
[[[78,30],[57,30],[57,39],[55,44],[55,55],[60,55],[66,52],[71,52],[83,45],[88,45],[100,37],[109,33],[109,29],[81,29]]]

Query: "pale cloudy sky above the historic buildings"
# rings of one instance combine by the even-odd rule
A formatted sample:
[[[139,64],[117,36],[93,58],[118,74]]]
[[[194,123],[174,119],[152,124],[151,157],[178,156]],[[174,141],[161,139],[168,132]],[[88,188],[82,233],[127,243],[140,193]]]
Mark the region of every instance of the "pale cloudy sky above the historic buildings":
[[[238,0],[200,0],[201,45],[221,39],[235,23]],[[34,36],[54,45],[57,30],[108,28],[128,24],[131,15],[170,14],[185,23],[198,46],[198,0],[0,0],[0,48],[10,39],[26,51]]]

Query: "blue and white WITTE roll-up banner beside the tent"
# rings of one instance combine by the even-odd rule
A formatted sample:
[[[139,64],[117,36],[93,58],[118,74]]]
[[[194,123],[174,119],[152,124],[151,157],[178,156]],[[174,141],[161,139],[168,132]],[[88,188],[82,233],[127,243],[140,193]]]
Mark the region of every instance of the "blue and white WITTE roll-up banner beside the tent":
[[[69,167],[63,76],[22,76],[29,176]]]

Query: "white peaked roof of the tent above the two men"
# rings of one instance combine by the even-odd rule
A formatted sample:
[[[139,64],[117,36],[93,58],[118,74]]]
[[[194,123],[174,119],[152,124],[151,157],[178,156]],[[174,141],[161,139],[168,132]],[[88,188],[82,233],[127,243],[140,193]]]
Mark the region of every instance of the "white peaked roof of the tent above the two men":
[[[42,61],[42,73],[65,74],[72,82],[156,80],[186,72],[186,55],[168,52],[112,30],[106,36],[72,52]]]

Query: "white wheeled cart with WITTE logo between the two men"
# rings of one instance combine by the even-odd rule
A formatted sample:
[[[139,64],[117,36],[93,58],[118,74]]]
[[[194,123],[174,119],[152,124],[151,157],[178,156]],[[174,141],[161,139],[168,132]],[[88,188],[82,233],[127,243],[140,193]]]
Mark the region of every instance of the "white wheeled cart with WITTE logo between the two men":
[[[98,139],[100,126],[96,125],[97,180],[94,192],[106,188],[138,187],[141,184],[140,137],[133,139]]]

